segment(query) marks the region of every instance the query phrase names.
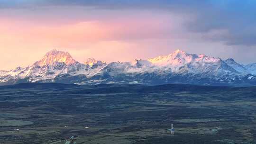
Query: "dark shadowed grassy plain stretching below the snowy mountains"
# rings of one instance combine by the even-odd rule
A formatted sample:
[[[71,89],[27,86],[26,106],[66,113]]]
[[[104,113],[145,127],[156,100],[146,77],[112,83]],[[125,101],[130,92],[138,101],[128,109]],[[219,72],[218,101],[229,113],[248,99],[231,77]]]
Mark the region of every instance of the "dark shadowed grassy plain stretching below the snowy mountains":
[[[0,87],[0,144],[256,144],[255,118],[256,87]]]

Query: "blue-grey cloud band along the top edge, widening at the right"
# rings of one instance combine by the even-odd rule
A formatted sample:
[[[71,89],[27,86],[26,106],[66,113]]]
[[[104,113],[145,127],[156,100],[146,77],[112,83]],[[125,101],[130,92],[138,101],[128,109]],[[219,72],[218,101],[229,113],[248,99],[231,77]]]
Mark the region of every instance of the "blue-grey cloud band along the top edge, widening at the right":
[[[226,45],[256,45],[256,0],[0,0],[0,8],[82,6],[194,14],[184,28]]]

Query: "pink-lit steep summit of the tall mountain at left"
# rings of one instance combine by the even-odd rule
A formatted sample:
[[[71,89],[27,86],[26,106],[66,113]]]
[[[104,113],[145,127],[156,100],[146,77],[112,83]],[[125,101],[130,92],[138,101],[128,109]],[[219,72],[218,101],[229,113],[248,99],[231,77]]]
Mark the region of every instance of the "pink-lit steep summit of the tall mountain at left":
[[[65,63],[66,65],[69,65],[75,62],[76,61],[68,52],[57,51],[54,49],[46,53],[45,56],[35,64],[42,67],[46,65],[53,65],[55,63]]]

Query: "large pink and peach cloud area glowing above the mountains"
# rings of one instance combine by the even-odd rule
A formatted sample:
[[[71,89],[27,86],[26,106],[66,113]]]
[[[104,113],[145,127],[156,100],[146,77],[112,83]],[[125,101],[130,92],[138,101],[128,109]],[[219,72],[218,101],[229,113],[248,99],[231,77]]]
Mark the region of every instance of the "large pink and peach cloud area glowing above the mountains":
[[[196,36],[183,29],[190,19],[163,11],[0,9],[0,69],[25,67],[51,49],[68,51],[79,62],[146,59],[178,48],[205,53],[209,44],[192,42]]]

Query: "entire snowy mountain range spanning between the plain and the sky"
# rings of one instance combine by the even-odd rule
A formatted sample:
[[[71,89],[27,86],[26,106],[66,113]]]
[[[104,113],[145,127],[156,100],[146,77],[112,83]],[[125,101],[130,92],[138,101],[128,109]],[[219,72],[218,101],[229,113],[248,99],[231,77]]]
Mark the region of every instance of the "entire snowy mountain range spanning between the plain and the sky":
[[[0,85],[23,82],[254,86],[256,63],[243,65],[231,58],[222,60],[181,50],[147,60],[106,63],[89,58],[79,63],[68,52],[52,50],[30,66],[0,71]]]

